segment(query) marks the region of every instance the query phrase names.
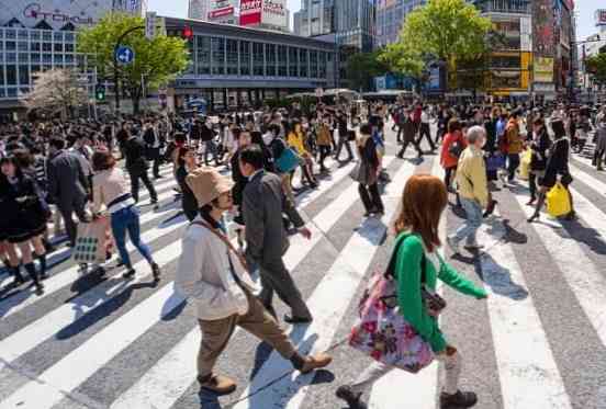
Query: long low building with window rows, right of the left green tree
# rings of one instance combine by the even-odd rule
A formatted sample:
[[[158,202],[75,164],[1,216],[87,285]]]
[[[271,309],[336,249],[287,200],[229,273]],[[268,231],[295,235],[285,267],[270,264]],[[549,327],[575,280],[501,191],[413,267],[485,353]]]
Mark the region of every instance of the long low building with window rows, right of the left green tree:
[[[273,31],[166,18],[167,33],[193,30],[191,64],[172,84],[173,103],[203,98],[212,111],[333,88],[335,44]]]

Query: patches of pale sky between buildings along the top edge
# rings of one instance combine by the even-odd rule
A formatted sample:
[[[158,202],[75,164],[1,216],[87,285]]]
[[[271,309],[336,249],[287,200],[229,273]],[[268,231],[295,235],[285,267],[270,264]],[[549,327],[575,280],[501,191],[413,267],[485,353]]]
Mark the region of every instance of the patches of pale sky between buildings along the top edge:
[[[301,0],[287,0],[292,13],[301,8]],[[149,10],[157,11],[160,15],[186,18],[188,15],[188,0],[148,0]],[[583,39],[595,34],[597,29],[594,23],[594,13],[602,7],[606,9],[606,0],[575,0],[576,7],[576,37]]]

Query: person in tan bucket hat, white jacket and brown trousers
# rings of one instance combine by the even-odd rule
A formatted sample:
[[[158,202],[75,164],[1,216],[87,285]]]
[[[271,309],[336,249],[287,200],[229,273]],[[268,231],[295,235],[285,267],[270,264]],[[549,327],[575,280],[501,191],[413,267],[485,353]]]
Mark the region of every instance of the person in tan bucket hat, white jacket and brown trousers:
[[[236,389],[233,379],[213,373],[236,326],[272,345],[301,373],[327,366],[333,360],[326,353],[301,355],[252,295],[257,288],[246,261],[229,242],[222,224],[223,214],[233,206],[233,182],[209,167],[190,172],[186,182],[195,195],[200,214],[186,230],[175,283],[197,305],[202,331],[198,355],[200,386],[218,395]]]

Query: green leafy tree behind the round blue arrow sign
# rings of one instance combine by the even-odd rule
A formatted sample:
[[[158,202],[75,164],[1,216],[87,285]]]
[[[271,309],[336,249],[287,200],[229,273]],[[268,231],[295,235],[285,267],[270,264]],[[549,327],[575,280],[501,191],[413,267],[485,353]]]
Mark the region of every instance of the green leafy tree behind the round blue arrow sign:
[[[119,84],[115,92],[127,91],[133,100],[133,111],[138,112],[144,89],[155,89],[175,79],[189,64],[186,42],[178,37],[157,35],[147,39],[143,29],[144,20],[121,13],[109,13],[101,21],[79,34],[78,52],[89,56],[101,78],[114,78],[114,47],[124,33],[133,30],[121,42],[133,48],[132,64],[117,67]],[[120,84],[122,87],[120,87]]]

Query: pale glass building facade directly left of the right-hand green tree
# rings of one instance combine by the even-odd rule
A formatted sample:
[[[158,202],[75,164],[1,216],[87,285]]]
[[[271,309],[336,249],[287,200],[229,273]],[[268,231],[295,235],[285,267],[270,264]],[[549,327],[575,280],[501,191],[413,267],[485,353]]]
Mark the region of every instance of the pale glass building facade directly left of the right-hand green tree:
[[[395,43],[406,15],[426,2],[427,0],[378,0],[375,47]]]

